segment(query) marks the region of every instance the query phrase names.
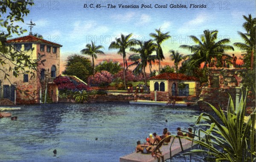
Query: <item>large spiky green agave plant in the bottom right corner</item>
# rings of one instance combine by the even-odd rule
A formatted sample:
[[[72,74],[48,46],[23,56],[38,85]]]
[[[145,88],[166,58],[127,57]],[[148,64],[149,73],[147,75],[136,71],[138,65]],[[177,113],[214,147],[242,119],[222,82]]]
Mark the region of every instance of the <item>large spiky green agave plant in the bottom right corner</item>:
[[[211,124],[201,124],[208,129],[199,129],[199,134],[194,139],[183,137],[201,145],[201,149],[194,149],[189,153],[207,153],[208,157],[213,157],[216,162],[254,162],[256,160],[256,109],[254,108],[250,116],[245,116],[245,104],[246,96],[243,99],[243,95],[237,108],[234,107],[230,97],[227,111],[209,104],[219,119],[215,119],[208,113],[201,113],[196,124],[199,124],[202,119]],[[205,136],[200,137],[200,132]]]

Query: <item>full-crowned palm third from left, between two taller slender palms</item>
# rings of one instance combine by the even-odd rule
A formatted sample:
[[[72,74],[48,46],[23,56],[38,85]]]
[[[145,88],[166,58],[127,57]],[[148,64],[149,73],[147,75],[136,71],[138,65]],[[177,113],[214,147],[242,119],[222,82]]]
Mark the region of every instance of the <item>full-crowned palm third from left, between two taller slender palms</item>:
[[[130,51],[132,52],[136,52],[136,53],[140,53],[140,55],[131,55],[129,57],[130,60],[134,60],[136,61],[134,64],[137,64],[137,67],[135,69],[142,69],[141,71],[143,71],[144,74],[144,81],[145,81],[145,85],[147,85],[147,81],[146,81],[146,72],[145,72],[145,68],[148,64],[148,61],[152,60],[152,52],[154,52],[157,48],[157,44],[153,42],[153,40],[148,40],[145,42],[142,42],[140,40],[137,40],[137,44],[140,46],[139,48],[130,48]],[[131,64],[131,65],[134,65]]]

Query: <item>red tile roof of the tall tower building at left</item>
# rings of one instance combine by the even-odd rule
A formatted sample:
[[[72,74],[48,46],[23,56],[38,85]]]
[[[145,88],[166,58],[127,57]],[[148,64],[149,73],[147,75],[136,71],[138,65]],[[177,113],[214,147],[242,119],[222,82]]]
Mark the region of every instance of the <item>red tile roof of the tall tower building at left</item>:
[[[53,43],[53,42],[50,42],[48,40],[37,38],[37,37],[32,36],[32,35],[27,35],[27,36],[24,36],[24,37],[10,39],[10,40],[7,40],[6,43],[45,43],[45,44],[51,44],[51,45],[62,47],[62,45],[60,45],[58,43]]]

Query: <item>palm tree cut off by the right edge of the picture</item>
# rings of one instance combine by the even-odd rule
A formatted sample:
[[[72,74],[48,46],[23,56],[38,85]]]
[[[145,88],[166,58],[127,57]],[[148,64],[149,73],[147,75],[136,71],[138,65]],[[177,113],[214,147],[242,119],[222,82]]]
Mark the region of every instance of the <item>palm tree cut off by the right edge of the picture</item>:
[[[256,18],[252,18],[251,14],[248,17],[244,16],[246,22],[243,23],[243,27],[247,33],[238,32],[244,43],[234,43],[239,49],[245,50],[247,54],[251,55],[250,58],[250,68],[253,69],[253,58],[255,53],[255,37],[256,37]]]

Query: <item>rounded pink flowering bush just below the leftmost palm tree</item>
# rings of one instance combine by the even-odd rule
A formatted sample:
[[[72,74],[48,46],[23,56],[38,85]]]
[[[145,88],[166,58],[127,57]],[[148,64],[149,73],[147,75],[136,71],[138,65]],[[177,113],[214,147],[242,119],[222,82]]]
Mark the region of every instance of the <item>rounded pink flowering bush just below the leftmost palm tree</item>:
[[[112,82],[113,76],[110,72],[102,70],[101,72],[96,72],[93,76],[89,76],[88,83],[91,85],[97,85],[97,86],[108,86]]]

